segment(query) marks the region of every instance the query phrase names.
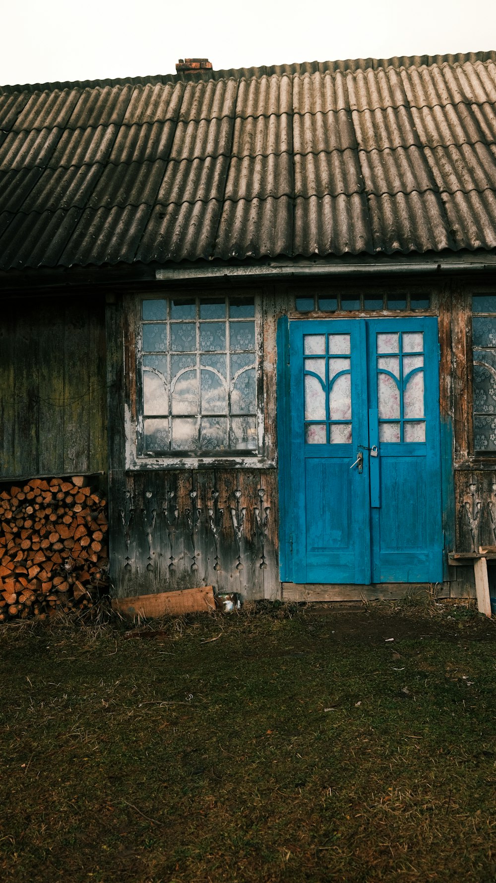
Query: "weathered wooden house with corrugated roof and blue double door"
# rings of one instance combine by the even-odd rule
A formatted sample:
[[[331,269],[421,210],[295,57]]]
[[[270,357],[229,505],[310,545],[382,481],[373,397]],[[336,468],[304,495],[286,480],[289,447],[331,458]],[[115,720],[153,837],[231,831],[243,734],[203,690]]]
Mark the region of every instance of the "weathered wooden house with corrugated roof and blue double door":
[[[494,52],[2,87],[0,479],[117,597],[473,593],[495,247]]]

